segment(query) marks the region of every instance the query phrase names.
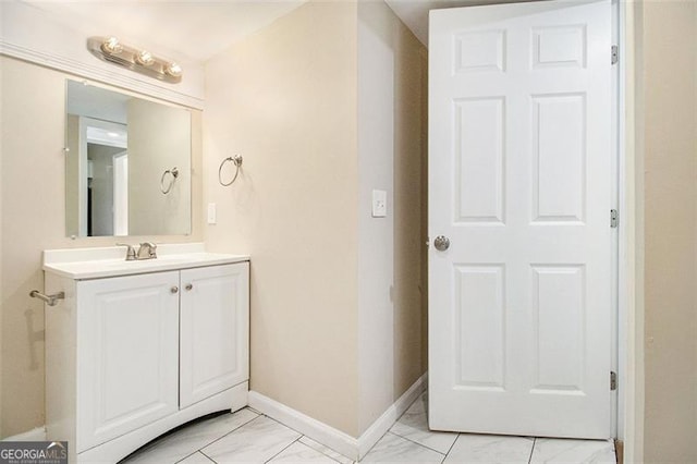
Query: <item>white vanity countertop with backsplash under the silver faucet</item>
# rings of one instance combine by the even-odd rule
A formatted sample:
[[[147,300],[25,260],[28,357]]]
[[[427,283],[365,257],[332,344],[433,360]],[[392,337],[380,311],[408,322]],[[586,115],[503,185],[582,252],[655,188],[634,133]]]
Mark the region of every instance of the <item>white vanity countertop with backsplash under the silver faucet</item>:
[[[203,243],[158,245],[157,255],[155,259],[126,261],[126,248],[123,246],[47,249],[44,252],[44,270],[70,279],[83,280],[249,260],[248,255],[208,253]]]

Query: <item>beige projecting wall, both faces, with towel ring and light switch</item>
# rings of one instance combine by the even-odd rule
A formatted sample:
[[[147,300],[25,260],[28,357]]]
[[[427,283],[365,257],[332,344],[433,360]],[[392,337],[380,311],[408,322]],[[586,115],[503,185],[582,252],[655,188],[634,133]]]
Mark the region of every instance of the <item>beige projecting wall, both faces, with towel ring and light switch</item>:
[[[318,1],[206,68],[206,242],[252,255],[250,388],[353,437],[424,373],[423,53],[384,3]]]

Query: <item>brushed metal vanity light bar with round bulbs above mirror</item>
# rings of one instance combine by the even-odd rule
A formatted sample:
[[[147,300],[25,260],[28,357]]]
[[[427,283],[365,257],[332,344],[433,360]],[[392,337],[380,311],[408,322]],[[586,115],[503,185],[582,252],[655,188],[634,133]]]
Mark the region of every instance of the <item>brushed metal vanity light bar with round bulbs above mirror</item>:
[[[87,49],[100,60],[131,71],[172,84],[182,81],[182,66],[178,63],[156,57],[148,50],[124,45],[117,37],[90,37],[87,39]]]

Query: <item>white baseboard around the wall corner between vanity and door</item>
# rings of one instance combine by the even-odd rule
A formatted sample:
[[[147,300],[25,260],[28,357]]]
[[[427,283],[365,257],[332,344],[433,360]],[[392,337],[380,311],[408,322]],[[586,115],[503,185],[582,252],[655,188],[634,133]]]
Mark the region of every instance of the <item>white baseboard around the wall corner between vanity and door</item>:
[[[428,383],[427,376],[428,374],[424,374],[419,377],[414,384],[409,387],[394,404],[388,407],[357,439],[256,391],[249,391],[249,406],[306,435],[313,440],[331,448],[344,456],[357,461],[370,451],[375,443],[382,438],[392,425],[394,425],[396,419],[399,419],[418,395],[424,392]]]

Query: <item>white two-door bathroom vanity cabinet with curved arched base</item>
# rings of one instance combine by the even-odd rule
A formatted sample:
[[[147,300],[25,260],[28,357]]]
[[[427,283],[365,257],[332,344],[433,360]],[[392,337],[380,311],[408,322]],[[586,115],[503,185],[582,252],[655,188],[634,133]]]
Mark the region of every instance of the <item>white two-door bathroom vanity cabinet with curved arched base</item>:
[[[246,405],[249,262],[230,256],[130,262],[125,276],[45,264],[46,292],[65,293],[46,306],[47,437],[69,441],[71,462],[118,462]]]

